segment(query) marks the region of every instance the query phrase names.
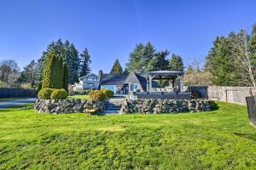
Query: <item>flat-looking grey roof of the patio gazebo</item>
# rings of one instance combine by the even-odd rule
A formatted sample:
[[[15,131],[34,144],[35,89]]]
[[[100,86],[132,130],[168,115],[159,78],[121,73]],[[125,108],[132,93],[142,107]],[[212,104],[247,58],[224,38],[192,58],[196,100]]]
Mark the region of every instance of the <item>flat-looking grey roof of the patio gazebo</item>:
[[[154,79],[171,79],[183,76],[184,71],[150,71],[148,76],[154,77]]]

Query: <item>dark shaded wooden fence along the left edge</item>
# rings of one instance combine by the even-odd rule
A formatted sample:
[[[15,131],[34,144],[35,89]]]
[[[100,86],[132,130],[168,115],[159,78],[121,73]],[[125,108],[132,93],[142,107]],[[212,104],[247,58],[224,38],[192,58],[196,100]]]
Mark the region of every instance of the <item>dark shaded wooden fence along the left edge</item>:
[[[0,88],[0,98],[36,97],[38,92],[24,88]]]

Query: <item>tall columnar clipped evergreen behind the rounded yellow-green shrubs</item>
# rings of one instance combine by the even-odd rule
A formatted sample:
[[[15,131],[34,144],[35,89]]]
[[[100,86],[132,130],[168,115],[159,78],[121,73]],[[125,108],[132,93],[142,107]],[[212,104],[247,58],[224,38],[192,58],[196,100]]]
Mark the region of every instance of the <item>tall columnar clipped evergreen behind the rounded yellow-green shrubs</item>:
[[[49,54],[44,69],[42,88],[63,88],[63,58],[57,54]]]

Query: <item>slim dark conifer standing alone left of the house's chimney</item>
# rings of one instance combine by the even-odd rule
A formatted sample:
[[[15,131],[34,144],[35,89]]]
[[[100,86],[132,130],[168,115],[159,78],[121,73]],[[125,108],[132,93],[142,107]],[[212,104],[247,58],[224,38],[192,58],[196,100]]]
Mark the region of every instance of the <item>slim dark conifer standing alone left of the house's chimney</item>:
[[[83,50],[83,53],[80,54],[80,58],[82,59],[80,77],[84,77],[90,73],[91,60],[88,48]]]

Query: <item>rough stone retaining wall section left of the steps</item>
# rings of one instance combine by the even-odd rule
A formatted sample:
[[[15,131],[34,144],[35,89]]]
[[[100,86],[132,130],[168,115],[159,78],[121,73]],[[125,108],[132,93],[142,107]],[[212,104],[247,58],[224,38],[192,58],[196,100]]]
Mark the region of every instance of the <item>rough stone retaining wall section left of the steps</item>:
[[[104,111],[105,103],[84,99],[38,99],[34,108],[39,113],[76,113],[86,110]]]

